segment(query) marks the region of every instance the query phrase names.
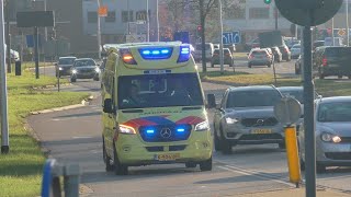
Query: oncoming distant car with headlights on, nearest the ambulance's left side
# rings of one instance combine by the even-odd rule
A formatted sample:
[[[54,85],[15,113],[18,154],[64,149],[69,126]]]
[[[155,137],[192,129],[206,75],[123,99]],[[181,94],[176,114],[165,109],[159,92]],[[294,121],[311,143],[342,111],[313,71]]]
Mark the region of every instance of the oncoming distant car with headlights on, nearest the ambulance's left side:
[[[76,82],[77,79],[100,80],[101,70],[99,65],[91,58],[76,59],[71,68],[70,81]]]

